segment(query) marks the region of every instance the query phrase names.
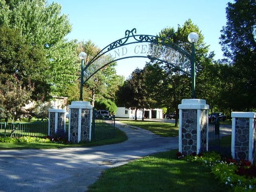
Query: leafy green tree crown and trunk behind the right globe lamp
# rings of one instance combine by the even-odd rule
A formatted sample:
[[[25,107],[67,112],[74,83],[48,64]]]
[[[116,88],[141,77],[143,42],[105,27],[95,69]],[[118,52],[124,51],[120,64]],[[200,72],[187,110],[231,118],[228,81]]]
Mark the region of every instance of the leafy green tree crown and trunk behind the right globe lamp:
[[[206,99],[204,93],[209,87],[205,87],[204,81],[207,77],[204,74],[204,68],[211,63],[213,54],[208,54],[208,46],[205,45],[203,34],[199,28],[188,19],[183,26],[178,26],[177,30],[174,28],[163,29],[159,33],[159,37],[167,39],[164,41],[166,44],[174,43],[191,54],[191,44],[187,40],[187,36],[190,32],[199,34],[199,40],[195,44],[196,81],[199,82],[196,91],[199,98]],[[177,69],[177,67],[170,65],[170,63],[151,60],[151,65],[156,70],[155,74],[158,74],[154,75],[155,83],[152,82],[149,87],[149,89],[153,91],[154,100],[156,100],[157,103],[162,103],[162,106],[166,106],[169,111],[175,111],[176,114],[179,114],[178,104],[181,103],[182,99],[191,97],[191,78],[186,73]],[[152,70],[154,68],[152,68]],[[150,76],[147,77],[148,81]],[[178,126],[178,115],[176,116],[175,125]]]

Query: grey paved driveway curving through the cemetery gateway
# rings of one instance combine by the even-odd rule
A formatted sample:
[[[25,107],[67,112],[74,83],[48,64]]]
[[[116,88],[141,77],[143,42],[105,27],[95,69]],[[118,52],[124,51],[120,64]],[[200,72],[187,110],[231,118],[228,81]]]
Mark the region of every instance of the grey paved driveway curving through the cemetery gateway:
[[[97,147],[0,151],[0,191],[86,191],[102,170],[148,154],[178,148],[164,138],[117,122],[129,139]]]

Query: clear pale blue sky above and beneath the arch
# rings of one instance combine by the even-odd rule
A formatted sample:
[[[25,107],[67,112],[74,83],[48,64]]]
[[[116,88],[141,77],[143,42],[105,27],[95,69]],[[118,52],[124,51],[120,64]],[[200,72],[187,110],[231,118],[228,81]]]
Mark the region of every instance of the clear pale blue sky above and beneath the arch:
[[[215,59],[222,58],[219,45],[220,30],[226,25],[226,10],[232,0],[48,0],[62,6],[68,15],[72,32],[68,40],[92,42],[103,49],[125,36],[126,30],[137,29],[137,34],[158,35],[164,28],[183,26],[189,18],[197,25],[214,51]],[[117,74],[127,78],[137,67],[145,66],[144,58],[117,61]]]

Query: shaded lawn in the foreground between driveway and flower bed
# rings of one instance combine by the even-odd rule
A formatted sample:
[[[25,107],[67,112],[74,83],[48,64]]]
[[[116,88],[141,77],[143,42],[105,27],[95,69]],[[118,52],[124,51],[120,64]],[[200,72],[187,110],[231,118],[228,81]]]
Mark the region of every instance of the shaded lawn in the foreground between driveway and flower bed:
[[[178,159],[177,150],[107,169],[89,191],[227,191],[198,162]]]

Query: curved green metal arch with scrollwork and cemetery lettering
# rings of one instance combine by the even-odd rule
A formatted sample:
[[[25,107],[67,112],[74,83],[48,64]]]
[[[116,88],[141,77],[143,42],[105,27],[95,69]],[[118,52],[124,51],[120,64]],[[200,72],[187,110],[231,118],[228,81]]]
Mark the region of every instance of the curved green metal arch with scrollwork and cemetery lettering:
[[[136,29],[99,51],[84,67],[83,82],[110,63],[126,58],[148,58],[167,63],[190,76],[190,54],[166,38],[137,35]]]

